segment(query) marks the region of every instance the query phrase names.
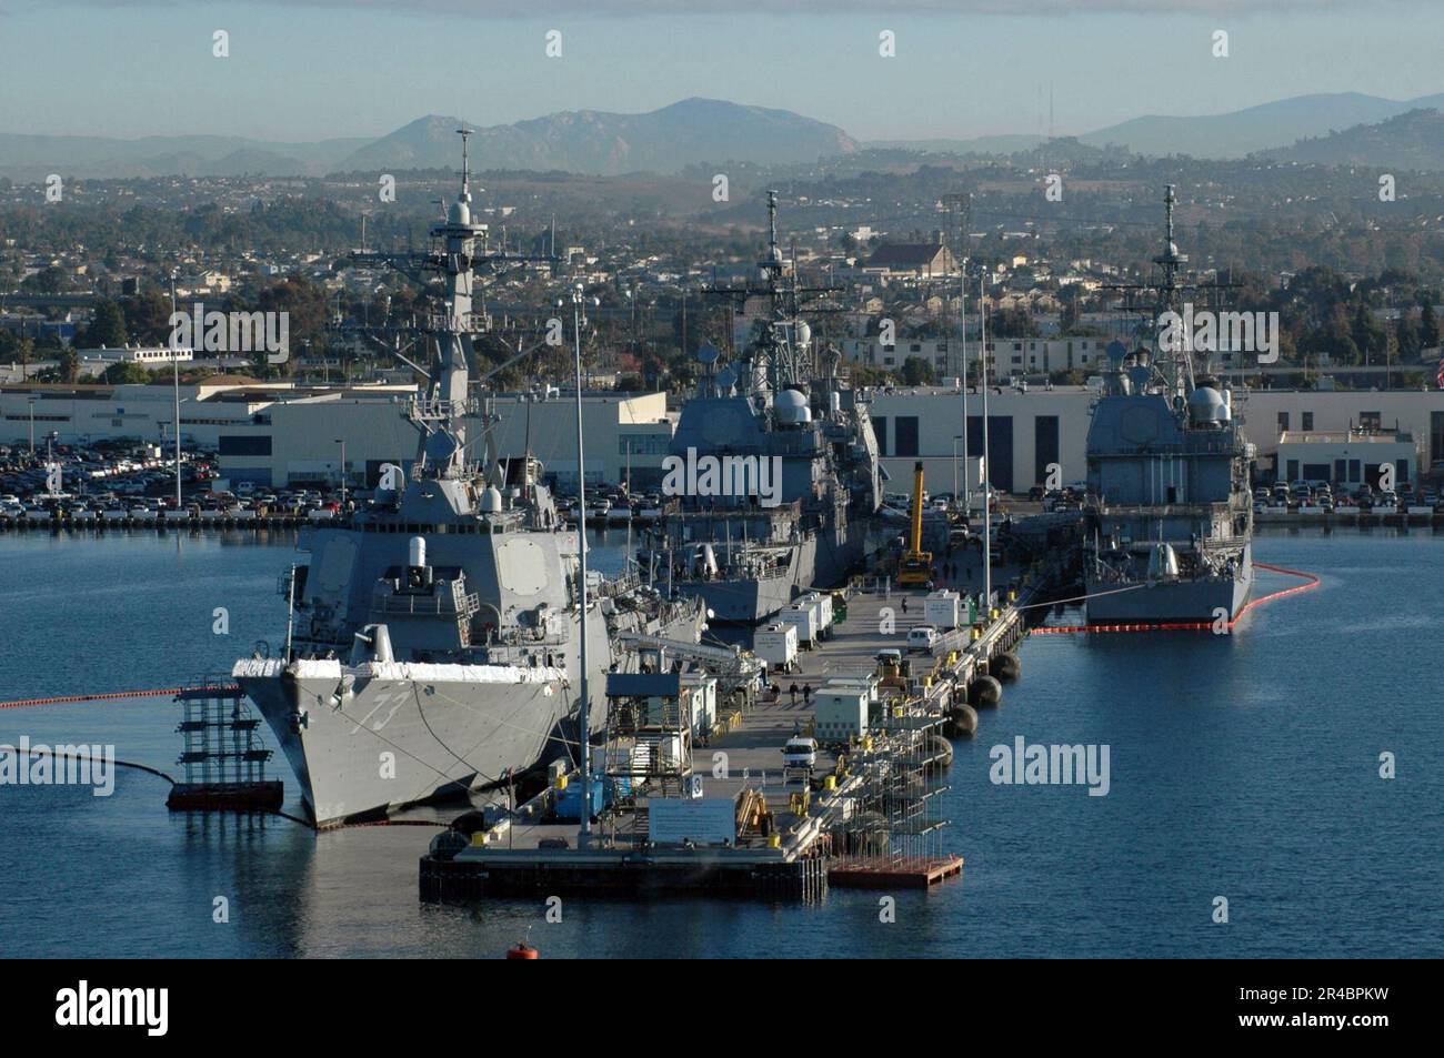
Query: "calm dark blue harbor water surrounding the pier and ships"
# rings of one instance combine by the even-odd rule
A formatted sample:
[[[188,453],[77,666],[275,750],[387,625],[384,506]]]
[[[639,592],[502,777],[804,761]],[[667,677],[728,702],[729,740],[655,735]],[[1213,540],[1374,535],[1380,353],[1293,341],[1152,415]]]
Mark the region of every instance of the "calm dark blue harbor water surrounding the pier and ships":
[[[1321,587],[1233,637],[1022,647],[1021,683],[950,774],[965,878],[898,893],[895,924],[877,893],[838,891],[817,906],[570,899],[556,925],[530,902],[425,906],[429,829],[173,817],[162,779],[121,771],[110,798],[0,787],[0,953],[494,957],[530,930],[544,957],[1440,956],[1444,537],[1302,531],[1256,550]],[[240,533],[0,537],[0,700],[228,670],[283,637],[289,560]],[[0,710],[0,742],[108,742],[175,774],[176,719],[166,699]],[[993,785],[988,751],[1015,735],[1106,743],[1109,795]]]

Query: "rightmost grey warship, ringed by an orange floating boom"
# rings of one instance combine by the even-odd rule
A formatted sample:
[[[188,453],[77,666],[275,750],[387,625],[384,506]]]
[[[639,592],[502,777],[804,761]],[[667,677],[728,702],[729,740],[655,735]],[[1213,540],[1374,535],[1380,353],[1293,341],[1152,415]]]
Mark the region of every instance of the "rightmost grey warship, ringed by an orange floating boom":
[[[1174,244],[1174,189],[1158,319],[1177,313],[1187,257]],[[1177,318],[1173,318],[1177,319]],[[1158,332],[1155,331],[1155,338]],[[1173,332],[1177,339],[1177,331]],[[1112,371],[1087,434],[1084,585],[1089,624],[1217,624],[1253,590],[1253,446],[1233,394],[1196,377],[1188,342],[1109,348]]]

